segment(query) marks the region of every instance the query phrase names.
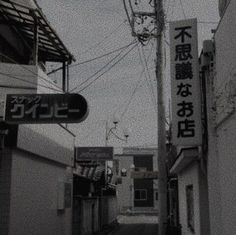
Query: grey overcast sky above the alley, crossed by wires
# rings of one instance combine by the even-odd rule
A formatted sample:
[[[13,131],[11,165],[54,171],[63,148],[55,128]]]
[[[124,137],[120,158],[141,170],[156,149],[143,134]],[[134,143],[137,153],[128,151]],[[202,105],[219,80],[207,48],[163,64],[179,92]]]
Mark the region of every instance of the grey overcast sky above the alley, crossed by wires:
[[[145,2],[149,2],[148,0],[137,1],[143,3],[143,5],[139,4],[139,10],[147,10],[143,8],[145,8]],[[109,53],[134,40],[122,0],[37,0],[37,2],[65,45],[75,56],[77,60],[75,63]],[[217,27],[214,22],[219,20],[218,0],[167,0],[164,2],[167,21],[166,41],[169,40],[169,21],[197,18],[200,50],[202,41],[210,39],[211,29]],[[122,136],[122,128],[129,127],[131,136],[128,143],[110,136],[108,145],[156,146],[155,43],[155,39],[152,39],[147,46],[134,47],[120,62],[117,62],[120,58],[117,57],[113,61],[117,64],[108,72],[105,71],[110,65],[105,67],[105,70],[101,68],[119,51],[70,69],[70,87],[78,86],[75,92],[84,89],[80,93],[88,100],[90,107],[89,116],[83,123],[70,125],[77,135],[77,146],[104,146],[105,121],[107,120],[111,126],[114,114],[123,115],[117,134]],[[125,55],[131,48],[132,45],[124,49],[120,56]],[[167,44],[165,44],[164,61],[165,99],[168,106],[170,81]],[[57,65],[54,67],[56,68]],[[99,70],[101,70],[100,73],[97,72]],[[102,73],[104,74],[97,78]],[[85,82],[93,74],[95,76]],[[56,74],[52,75],[52,79],[56,77]],[[85,88],[95,79],[92,85]],[[84,83],[79,85],[82,82]]]

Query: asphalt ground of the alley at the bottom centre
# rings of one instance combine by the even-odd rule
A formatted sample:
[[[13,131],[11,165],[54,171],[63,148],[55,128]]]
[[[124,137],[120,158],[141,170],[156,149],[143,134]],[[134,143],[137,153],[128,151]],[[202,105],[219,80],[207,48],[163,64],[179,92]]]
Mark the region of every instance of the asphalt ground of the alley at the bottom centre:
[[[119,216],[119,226],[110,233],[111,235],[157,235],[157,216],[132,215]]]

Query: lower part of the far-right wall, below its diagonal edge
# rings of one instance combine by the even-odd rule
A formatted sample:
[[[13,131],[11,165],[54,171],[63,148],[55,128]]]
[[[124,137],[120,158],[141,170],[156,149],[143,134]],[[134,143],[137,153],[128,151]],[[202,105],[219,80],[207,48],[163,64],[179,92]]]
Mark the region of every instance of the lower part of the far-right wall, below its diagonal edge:
[[[236,115],[218,129],[220,156],[221,218],[224,234],[236,231]],[[213,215],[212,215],[213,216]]]

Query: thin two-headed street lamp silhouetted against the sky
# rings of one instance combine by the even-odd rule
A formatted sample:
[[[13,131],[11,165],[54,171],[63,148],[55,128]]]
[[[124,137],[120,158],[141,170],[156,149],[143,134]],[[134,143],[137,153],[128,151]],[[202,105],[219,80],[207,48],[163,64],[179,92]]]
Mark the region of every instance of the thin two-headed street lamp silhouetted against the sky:
[[[117,124],[120,122],[119,117],[114,115],[113,117],[113,124],[114,126],[109,128],[108,127],[108,121],[106,121],[106,142],[105,142],[105,146],[107,146],[108,144],[108,140],[109,137],[112,135],[114,137],[116,137],[117,139],[121,140],[121,141],[125,141],[127,143],[127,139],[130,136],[130,129],[129,128],[125,128],[123,129],[123,137],[120,137],[117,133],[116,133],[116,129],[117,129]]]

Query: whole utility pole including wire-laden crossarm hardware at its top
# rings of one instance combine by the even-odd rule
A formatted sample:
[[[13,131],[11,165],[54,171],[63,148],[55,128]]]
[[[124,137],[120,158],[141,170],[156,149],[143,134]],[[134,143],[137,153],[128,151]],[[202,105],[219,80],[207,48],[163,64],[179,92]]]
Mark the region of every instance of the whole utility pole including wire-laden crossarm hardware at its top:
[[[149,1],[149,4],[152,1]],[[148,37],[156,37],[156,80],[157,80],[157,134],[158,134],[158,193],[159,193],[159,233],[158,235],[166,235],[167,229],[167,170],[166,170],[166,129],[165,129],[165,107],[163,101],[163,32],[164,32],[164,9],[163,0],[153,0],[154,12],[135,12],[131,1],[129,0],[130,10],[129,16],[126,0],[123,0],[125,12],[128,17],[129,24],[132,28],[132,35],[137,36],[139,41],[145,41]],[[136,5],[138,2],[136,1]],[[150,4],[151,5],[151,4]],[[136,33],[135,18],[139,18],[141,22],[145,21],[146,17],[155,18],[156,34],[143,31]],[[140,23],[139,23],[140,24]],[[152,30],[153,31],[153,30]],[[151,31],[151,32],[152,32]],[[142,37],[140,37],[142,36]]]

